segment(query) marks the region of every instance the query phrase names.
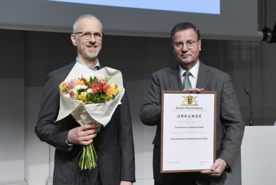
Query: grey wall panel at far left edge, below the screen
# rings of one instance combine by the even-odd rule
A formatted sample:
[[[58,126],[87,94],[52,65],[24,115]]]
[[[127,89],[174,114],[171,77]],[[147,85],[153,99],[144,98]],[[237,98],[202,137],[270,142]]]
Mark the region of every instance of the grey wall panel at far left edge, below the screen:
[[[0,32],[0,182],[24,182],[24,32]]]

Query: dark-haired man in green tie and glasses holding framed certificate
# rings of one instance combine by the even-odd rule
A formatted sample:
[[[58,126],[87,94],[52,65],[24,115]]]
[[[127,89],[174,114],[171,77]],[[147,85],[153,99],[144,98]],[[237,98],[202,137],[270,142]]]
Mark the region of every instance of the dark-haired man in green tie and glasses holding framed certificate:
[[[201,40],[194,24],[175,25],[171,42],[178,63],[152,74],[152,84],[140,111],[145,125],[157,125],[152,143],[154,184],[224,184],[225,172],[233,170],[244,132],[236,92],[228,74],[199,61]],[[201,172],[160,173],[161,93],[182,90],[217,91],[216,161],[210,170]]]

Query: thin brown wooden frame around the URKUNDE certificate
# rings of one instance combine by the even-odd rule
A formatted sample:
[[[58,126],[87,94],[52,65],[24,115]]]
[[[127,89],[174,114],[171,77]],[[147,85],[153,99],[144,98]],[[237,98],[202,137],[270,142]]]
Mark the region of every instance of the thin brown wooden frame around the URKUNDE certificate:
[[[161,114],[161,147],[160,147],[160,173],[175,173],[175,172],[200,172],[203,170],[208,170],[211,168],[192,168],[192,169],[170,169],[166,170],[164,169],[163,159],[164,159],[164,124],[168,124],[164,122],[164,96],[165,94],[183,94],[183,95],[193,95],[193,94],[202,94],[200,96],[205,96],[204,94],[213,94],[214,95],[214,124],[211,125],[214,127],[214,134],[213,134],[213,157],[212,157],[212,165],[215,163],[216,160],[216,110],[217,110],[217,92],[216,91],[201,91],[198,92],[190,92],[190,91],[162,91],[162,114]],[[182,96],[183,97],[183,96]],[[185,96],[184,96],[185,97]],[[184,102],[184,100],[183,100]],[[188,96],[187,96],[187,102],[188,102]],[[190,139],[190,138],[189,138]],[[188,151],[188,153],[192,151]],[[210,158],[211,159],[211,158]],[[210,163],[210,162],[209,162]],[[180,165],[180,164],[179,164]]]

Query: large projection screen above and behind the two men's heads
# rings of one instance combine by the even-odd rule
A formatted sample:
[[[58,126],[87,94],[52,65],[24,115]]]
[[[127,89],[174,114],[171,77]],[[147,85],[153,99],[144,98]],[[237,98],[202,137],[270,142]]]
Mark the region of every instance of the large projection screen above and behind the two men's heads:
[[[158,3],[150,3],[147,7],[144,7],[147,9],[142,9],[142,5],[139,4],[124,3],[128,7],[140,6],[140,8],[126,8],[83,4],[84,0],[78,1],[82,3],[45,0],[0,0],[0,29],[72,33],[76,19],[81,15],[90,13],[102,22],[105,35],[170,37],[170,31],[174,25],[180,22],[191,22],[200,30],[200,36],[203,39],[262,39],[258,36],[258,0],[220,2],[201,0],[203,3],[197,3],[196,5],[193,5],[193,2],[199,0],[182,0],[180,3],[177,0],[164,1],[169,2],[172,5],[170,7],[163,1],[151,1]],[[174,3],[174,1],[178,3]],[[102,2],[109,1],[99,2],[103,4]],[[113,2],[120,5],[119,0]],[[128,2],[136,1],[128,0]],[[206,4],[206,2],[208,3]],[[119,5],[117,4],[117,6]],[[149,9],[163,9],[164,7],[174,9],[174,11]],[[175,9],[177,7],[180,7],[183,11],[193,10],[201,13],[180,12]],[[219,14],[211,13],[212,11]]]

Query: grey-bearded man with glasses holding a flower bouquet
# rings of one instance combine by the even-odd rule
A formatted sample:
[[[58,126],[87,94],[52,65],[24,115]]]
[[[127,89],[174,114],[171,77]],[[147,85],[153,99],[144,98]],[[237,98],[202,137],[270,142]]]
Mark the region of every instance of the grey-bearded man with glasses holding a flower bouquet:
[[[48,75],[35,128],[41,141],[56,147],[53,184],[131,185],[135,182],[135,162],[126,91],[122,104],[118,105],[110,122],[102,126],[98,134],[93,124],[80,126],[71,115],[55,122],[60,101],[58,85],[75,64],[80,63],[91,72],[103,68],[98,60],[104,35],[101,22],[94,15],[87,14],[76,20],[73,29],[71,40],[77,46],[78,57],[71,64]],[[82,146],[91,142],[98,155],[97,166],[95,169],[81,170],[78,154]]]

